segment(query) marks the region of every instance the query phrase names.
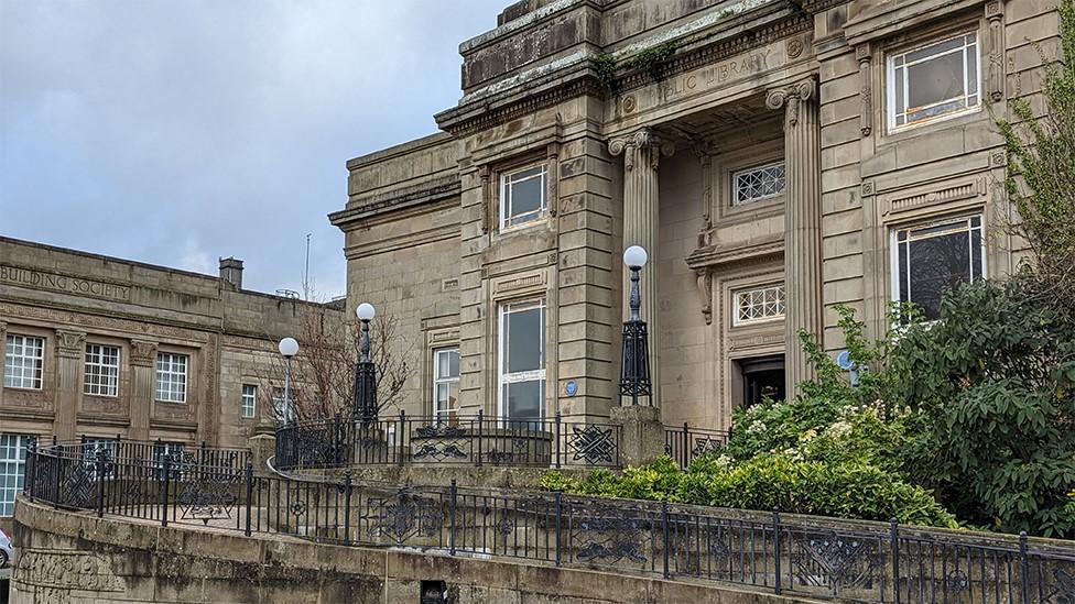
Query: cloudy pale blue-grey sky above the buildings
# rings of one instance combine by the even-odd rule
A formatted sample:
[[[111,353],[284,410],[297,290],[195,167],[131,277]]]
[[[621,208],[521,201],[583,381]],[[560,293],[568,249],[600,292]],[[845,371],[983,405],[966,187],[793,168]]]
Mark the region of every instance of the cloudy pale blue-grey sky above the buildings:
[[[436,131],[511,0],[0,0],[0,235],[345,293],[348,158]]]

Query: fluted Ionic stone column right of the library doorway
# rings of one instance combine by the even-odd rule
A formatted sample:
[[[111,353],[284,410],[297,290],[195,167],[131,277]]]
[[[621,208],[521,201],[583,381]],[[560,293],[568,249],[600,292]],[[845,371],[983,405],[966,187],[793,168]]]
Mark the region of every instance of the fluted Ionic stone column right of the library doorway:
[[[788,396],[813,375],[799,330],[818,340],[822,322],[822,162],[817,83],[808,77],[770,90],[770,109],[784,109],[784,317]]]

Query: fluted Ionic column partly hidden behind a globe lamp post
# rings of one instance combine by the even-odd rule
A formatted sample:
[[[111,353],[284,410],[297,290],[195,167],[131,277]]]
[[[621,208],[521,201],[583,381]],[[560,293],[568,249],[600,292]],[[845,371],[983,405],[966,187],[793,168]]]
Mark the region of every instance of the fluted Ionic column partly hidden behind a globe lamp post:
[[[672,155],[675,147],[648,128],[612,139],[608,152],[623,156],[623,248],[641,245],[649,254],[642,270],[642,319],[648,323],[650,348],[650,378],[653,382],[653,404],[661,404],[660,333],[658,327],[656,275],[659,205],[658,168],[661,155]],[[621,251],[622,253],[622,251]],[[613,254],[616,256],[616,254]],[[630,309],[630,272],[625,268],[620,290],[623,319]]]

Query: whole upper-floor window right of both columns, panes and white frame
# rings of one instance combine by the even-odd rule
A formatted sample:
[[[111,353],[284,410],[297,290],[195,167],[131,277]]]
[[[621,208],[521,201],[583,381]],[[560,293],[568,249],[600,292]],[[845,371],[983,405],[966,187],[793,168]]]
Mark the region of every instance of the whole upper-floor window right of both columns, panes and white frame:
[[[889,129],[977,108],[978,80],[978,43],[973,33],[890,55]]]

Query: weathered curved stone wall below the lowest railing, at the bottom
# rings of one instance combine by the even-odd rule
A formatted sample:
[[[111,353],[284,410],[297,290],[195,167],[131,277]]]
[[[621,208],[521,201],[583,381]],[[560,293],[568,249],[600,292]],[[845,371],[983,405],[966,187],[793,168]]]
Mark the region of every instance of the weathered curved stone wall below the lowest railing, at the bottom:
[[[98,519],[20,499],[11,601],[419,602],[444,582],[453,604],[558,602],[781,604],[805,601],[716,584],[552,565],[348,548]]]

